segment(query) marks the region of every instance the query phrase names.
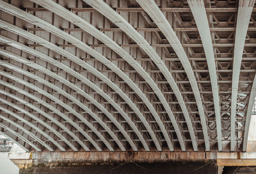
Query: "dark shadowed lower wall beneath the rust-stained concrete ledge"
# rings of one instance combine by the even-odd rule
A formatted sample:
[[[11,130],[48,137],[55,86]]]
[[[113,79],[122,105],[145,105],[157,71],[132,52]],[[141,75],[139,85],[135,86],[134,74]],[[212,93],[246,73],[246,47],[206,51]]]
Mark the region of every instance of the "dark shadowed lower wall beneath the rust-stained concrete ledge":
[[[40,173],[40,174],[154,174],[154,173],[195,173],[195,174],[216,174],[217,166],[212,161],[202,162],[155,162],[155,163],[107,163],[107,164],[92,164],[83,166],[58,166],[54,168],[45,168],[44,165],[35,166],[32,170],[20,170],[23,173]]]

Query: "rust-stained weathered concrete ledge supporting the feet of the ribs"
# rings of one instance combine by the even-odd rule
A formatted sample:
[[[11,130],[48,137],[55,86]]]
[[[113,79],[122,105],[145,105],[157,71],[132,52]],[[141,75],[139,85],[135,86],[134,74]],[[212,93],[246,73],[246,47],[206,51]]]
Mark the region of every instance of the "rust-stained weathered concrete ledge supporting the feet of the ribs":
[[[125,162],[207,162],[218,166],[256,166],[256,152],[31,152],[9,154],[20,169],[38,164],[46,166],[83,166]]]

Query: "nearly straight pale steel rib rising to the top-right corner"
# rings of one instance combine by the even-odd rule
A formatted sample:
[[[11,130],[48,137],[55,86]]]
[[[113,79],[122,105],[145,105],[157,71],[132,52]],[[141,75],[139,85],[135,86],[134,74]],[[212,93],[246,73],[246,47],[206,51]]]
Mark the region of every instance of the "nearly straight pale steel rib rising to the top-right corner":
[[[255,0],[252,0],[252,1],[240,0],[238,13],[237,13],[236,38],[235,38],[235,47],[234,47],[233,72],[232,72],[230,151],[235,150],[236,105],[237,105],[239,74],[240,74],[241,62],[243,57],[244,42],[246,39],[246,33],[249,26],[250,17],[252,15],[252,9],[254,4],[255,4]]]

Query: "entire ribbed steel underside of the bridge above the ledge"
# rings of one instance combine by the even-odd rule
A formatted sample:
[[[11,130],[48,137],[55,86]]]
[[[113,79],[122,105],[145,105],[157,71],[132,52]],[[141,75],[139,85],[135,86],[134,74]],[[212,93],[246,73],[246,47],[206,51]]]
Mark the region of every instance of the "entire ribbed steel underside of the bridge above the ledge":
[[[0,1],[0,131],[26,151],[245,151],[254,4]]]

